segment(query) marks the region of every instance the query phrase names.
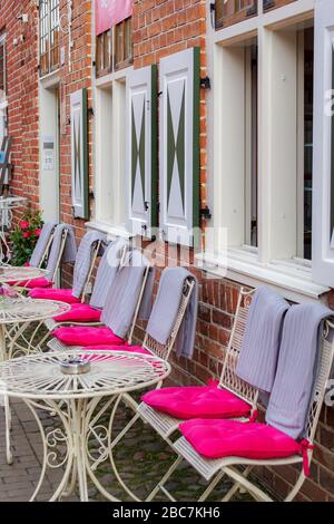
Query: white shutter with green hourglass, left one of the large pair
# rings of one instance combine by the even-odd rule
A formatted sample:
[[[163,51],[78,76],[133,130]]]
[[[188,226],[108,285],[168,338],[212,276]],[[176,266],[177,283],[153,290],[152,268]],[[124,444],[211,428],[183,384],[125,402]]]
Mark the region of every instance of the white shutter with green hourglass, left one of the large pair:
[[[151,239],[157,226],[157,68],[127,76],[127,227]]]

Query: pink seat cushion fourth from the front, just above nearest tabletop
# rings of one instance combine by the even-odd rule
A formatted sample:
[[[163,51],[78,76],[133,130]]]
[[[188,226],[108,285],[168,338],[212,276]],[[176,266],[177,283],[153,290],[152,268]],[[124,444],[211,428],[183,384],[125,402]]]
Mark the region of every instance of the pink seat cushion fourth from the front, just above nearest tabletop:
[[[125,340],[117,337],[109,328],[77,327],[58,328],[53,336],[65,346],[124,345]]]

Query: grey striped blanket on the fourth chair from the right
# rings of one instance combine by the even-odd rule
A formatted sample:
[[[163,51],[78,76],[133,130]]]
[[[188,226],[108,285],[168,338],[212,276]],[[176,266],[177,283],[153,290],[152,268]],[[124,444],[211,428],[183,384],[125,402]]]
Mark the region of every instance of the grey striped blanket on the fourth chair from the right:
[[[126,338],[136,313],[148,260],[139,251],[129,251],[109,288],[101,321],[115,334]]]

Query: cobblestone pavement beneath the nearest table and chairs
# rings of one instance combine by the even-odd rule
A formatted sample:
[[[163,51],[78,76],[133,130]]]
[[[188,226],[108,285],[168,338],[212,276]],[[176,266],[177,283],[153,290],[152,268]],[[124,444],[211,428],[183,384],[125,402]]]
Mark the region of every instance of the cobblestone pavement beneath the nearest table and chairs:
[[[4,456],[4,418],[0,408],[0,502],[28,501],[38,483],[41,469],[41,438],[32,414],[21,401],[12,402],[12,447],[14,460],[11,466],[6,464]],[[119,409],[116,430],[124,427],[130,413]],[[55,417],[43,415],[43,426],[57,427]],[[163,473],[174,460],[175,455],[170,448],[157,435],[139,420],[132,427],[116,449],[116,463],[122,478],[139,499],[145,498]],[[99,466],[97,476],[101,484],[122,502],[130,501],[130,496],[119,486],[108,462]],[[50,470],[46,477],[39,501],[48,499],[58,486],[61,470]],[[177,501],[196,501],[205,488],[205,483],[186,465],[181,465],[167,484],[168,489]],[[222,499],[229,484],[224,484],[216,489],[213,501]],[[90,499],[99,501],[102,497],[97,489],[89,486]],[[63,501],[77,501],[77,495],[63,498]],[[157,499],[166,501],[161,494]]]

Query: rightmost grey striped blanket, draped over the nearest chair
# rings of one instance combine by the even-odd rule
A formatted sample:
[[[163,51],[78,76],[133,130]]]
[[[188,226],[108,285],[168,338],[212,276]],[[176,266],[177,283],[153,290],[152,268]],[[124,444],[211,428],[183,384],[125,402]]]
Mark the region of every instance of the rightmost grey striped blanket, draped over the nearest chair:
[[[332,316],[325,305],[308,303],[293,305],[285,317],[266,423],[293,438],[304,436],[318,370],[323,321]]]

